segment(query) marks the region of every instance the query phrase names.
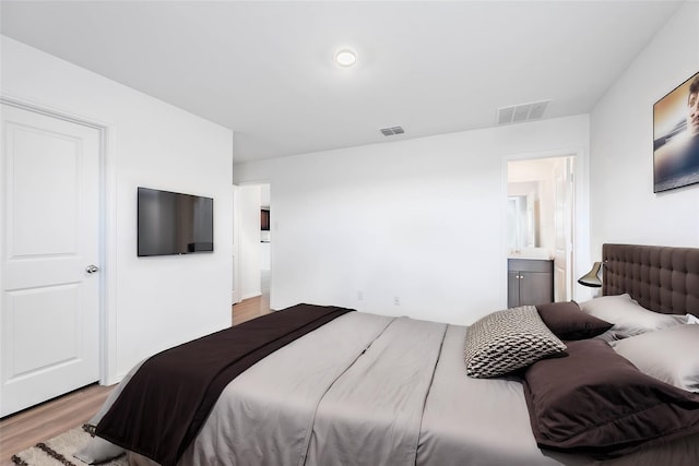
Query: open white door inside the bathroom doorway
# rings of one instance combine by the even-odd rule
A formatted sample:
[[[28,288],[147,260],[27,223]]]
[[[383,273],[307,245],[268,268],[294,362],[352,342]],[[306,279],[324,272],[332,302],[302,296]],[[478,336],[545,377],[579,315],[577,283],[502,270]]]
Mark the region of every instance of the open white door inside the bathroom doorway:
[[[554,300],[568,301],[572,295],[572,157],[559,158],[554,168],[556,199],[554,225],[556,249],[554,251]]]

